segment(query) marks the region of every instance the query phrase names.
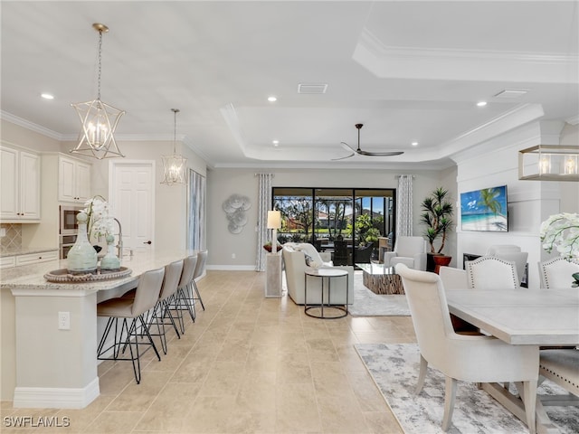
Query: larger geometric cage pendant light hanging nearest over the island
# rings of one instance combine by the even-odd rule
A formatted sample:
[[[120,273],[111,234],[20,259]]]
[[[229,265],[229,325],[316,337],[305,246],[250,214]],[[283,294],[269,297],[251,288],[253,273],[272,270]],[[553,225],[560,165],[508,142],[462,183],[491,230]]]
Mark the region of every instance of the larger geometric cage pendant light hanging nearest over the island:
[[[92,27],[99,32],[99,79],[97,99],[71,104],[81,118],[82,129],[79,143],[71,149],[72,154],[92,156],[98,159],[124,156],[117,146],[115,130],[119,119],[125,114],[100,100],[100,58],[102,53],[102,33],[109,32],[105,24],[95,23]]]

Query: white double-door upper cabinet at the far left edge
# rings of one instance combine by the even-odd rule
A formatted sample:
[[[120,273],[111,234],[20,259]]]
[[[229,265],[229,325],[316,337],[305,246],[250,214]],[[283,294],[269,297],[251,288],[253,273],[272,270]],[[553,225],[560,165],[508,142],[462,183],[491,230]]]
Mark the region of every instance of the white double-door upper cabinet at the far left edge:
[[[0,219],[40,222],[40,156],[13,146],[0,146]]]

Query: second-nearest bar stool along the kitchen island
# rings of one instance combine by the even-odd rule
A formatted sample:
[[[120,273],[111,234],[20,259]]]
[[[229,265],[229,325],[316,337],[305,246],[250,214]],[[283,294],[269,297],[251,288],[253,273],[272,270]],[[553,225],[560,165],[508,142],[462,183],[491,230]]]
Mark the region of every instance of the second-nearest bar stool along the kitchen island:
[[[165,325],[173,325],[175,329],[175,333],[177,338],[181,339],[181,335],[179,335],[179,330],[175,323],[175,318],[171,315],[171,304],[174,302],[176,297],[177,285],[179,284],[179,280],[181,278],[181,273],[183,272],[183,259],[176,260],[175,262],[171,262],[170,264],[166,265],[165,267],[165,278],[163,279],[163,285],[161,287],[161,292],[157,299],[157,305],[153,309],[153,315],[148,322],[149,325],[149,333],[150,327],[153,325],[153,321],[157,324],[158,333],[150,335],[159,336],[161,339],[161,348],[163,348],[163,353],[166,354],[166,331]],[[182,325],[182,329],[184,328],[183,325],[183,314],[180,310],[176,311],[177,319],[179,323]],[[169,319],[169,322],[166,323],[166,318]]]

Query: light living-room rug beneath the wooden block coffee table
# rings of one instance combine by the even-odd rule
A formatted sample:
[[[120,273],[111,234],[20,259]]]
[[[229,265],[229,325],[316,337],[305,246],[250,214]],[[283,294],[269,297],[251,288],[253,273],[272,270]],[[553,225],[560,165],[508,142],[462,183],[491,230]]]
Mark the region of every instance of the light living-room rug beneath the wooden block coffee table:
[[[410,316],[404,295],[377,295],[362,283],[362,271],[354,273],[354,304],[351,316]]]

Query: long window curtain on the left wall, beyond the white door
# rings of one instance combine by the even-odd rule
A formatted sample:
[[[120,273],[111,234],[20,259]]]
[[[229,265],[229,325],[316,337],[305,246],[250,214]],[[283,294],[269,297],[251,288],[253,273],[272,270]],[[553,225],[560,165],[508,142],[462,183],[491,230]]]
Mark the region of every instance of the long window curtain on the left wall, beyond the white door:
[[[187,249],[205,250],[205,177],[189,169]]]

